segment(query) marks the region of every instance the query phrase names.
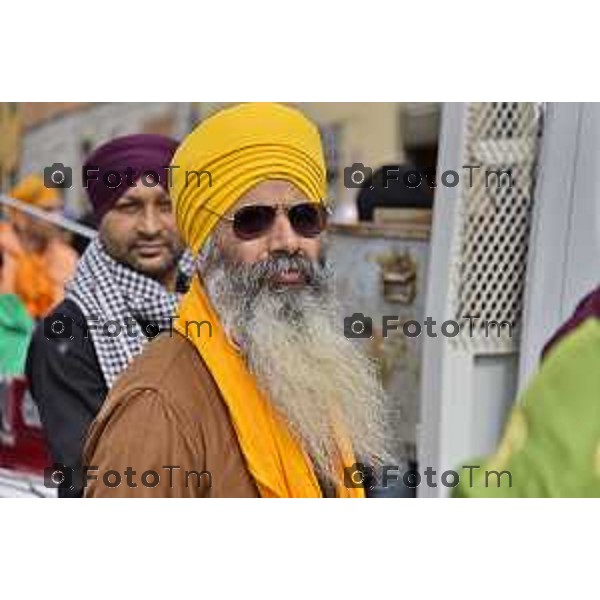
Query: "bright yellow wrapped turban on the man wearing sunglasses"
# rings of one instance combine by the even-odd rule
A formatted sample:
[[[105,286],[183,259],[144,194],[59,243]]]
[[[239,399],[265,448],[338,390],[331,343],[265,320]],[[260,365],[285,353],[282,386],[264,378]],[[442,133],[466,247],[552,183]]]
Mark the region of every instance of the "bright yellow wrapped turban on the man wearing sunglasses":
[[[171,187],[177,223],[193,252],[202,248],[218,215],[263,181],[289,181],[313,202],[326,196],[319,131],[301,112],[282,104],[222,110],[183,140],[171,165],[178,167]]]

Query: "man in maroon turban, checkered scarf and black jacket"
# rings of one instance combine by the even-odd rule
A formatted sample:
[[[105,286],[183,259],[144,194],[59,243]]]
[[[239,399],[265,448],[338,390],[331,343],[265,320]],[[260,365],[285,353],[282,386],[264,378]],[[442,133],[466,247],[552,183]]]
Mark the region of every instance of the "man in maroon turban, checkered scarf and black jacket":
[[[98,237],[83,254],[65,300],[36,330],[27,376],[56,463],[74,470],[88,425],[119,374],[170,325],[192,261],[169,198],[177,142],[130,135],[100,146],[83,167]],[[58,483],[58,482],[56,482]]]

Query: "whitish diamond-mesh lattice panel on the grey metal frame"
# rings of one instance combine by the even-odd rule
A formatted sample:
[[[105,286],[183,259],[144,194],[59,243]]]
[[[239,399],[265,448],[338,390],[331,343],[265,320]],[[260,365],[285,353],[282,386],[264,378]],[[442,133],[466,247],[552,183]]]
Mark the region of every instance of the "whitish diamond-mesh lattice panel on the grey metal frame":
[[[459,231],[451,277],[452,314],[463,325],[453,345],[474,354],[518,347],[533,205],[541,106],[468,105]],[[510,171],[500,177],[494,172]],[[465,316],[478,316],[471,328]],[[510,323],[499,326],[496,324]]]

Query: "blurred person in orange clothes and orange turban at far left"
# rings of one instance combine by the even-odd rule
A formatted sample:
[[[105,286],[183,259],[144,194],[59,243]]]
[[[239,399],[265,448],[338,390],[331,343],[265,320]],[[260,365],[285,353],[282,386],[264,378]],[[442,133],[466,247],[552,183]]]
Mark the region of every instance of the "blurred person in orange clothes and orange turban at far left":
[[[45,187],[38,175],[26,177],[9,196],[48,212],[63,208],[56,190]],[[16,294],[32,317],[43,317],[61,302],[77,252],[52,224],[14,208],[7,209],[7,216],[0,223],[0,293]]]

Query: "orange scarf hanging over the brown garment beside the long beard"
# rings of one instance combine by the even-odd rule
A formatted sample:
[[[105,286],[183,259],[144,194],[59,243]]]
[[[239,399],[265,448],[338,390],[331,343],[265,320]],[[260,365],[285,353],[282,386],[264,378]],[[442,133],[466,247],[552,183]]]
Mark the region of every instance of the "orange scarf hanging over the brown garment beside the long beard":
[[[197,323],[204,323],[198,326]],[[209,326],[212,335],[208,334]],[[243,358],[227,339],[198,277],[183,298],[175,329],[187,337],[212,373],[231,416],[237,438],[263,498],[319,498],[319,482],[310,459],[256,385]],[[362,488],[343,485],[343,466],[354,464],[340,442],[337,496],[363,498]]]

